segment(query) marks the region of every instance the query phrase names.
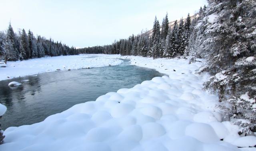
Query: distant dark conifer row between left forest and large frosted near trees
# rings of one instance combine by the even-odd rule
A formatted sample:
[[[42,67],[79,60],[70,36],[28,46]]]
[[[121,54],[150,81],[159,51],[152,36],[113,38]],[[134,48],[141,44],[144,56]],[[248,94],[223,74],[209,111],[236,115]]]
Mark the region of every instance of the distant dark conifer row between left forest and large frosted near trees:
[[[191,33],[191,19],[188,14],[185,23],[176,20],[174,26],[169,27],[168,14],[160,25],[155,17],[152,31],[141,32],[138,35],[131,35],[128,39],[114,41],[111,45],[86,47],[78,49],[80,53],[104,53],[135,55],[143,57],[163,58],[182,56],[186,48]]]

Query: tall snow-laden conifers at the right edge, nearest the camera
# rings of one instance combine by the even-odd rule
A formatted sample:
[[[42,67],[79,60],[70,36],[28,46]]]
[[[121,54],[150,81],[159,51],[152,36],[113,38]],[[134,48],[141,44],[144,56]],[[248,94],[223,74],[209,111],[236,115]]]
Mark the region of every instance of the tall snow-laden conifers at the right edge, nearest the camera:
[[[223,114],[245,127],[242,131],[255,133],[256,2],[208,0],[208,4],[192,33],[196,34],[197,49],[190,52],[206,58],[200,72],[213,75],[205,86],[218,93],[226,110]],[[248,122],[236,120],[240,118]]]

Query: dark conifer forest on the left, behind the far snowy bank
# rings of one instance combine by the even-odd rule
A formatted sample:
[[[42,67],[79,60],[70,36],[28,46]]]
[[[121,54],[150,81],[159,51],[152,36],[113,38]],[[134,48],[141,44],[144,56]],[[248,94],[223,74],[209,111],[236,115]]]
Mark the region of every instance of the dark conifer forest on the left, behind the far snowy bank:
[[[59,55],[78,55],[78,50],[40,35],[35,37],[30,30],[28,34],[24,29],[18,34],[14,33],[11,24],[6,32],[0,32],[0,58],[4,59],[5,63]]]

